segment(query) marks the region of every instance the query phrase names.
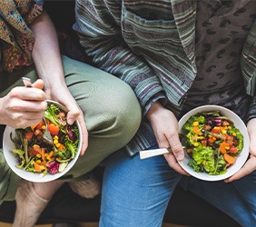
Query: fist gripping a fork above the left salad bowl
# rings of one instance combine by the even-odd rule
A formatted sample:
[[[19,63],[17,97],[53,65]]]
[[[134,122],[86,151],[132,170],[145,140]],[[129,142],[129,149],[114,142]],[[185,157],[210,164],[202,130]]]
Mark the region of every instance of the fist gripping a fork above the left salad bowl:
[[[47,107],[44,82],[32,87],[17,86],[0,99],[0,123],[13,128],[25,128],[39,123]]]

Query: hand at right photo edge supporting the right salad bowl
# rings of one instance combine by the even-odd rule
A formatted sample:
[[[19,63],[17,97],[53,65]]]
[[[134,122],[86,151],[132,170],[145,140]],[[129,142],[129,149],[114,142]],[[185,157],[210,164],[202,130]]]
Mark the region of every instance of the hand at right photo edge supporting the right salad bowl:
[[[256,118],[253,118],[247,124],[247,130],[250,138],[250,157],[248,161],[243,165],[241,170],[234,175],[232,175],[229,179],[226,179],[226,183],[231,183],[240,179],[241,177],[250,174],[252,171],[256,170],[256,128],[255,128]]]

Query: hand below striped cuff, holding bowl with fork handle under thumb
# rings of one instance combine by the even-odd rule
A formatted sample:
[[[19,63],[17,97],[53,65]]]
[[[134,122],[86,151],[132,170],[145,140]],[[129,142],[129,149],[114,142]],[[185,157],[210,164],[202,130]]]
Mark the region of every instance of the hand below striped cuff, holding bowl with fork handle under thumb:
[[[164,154],[167,163],[176,172],[188,175],[177,163],[177,160],[182,161],[184,159],[184,152],[179,139],[178,122],[175,115],[165,109],[162,104],[156,102],[151,106],[146,117],[152,124],[159,147],[170,147],[172,150],[172,153]]]

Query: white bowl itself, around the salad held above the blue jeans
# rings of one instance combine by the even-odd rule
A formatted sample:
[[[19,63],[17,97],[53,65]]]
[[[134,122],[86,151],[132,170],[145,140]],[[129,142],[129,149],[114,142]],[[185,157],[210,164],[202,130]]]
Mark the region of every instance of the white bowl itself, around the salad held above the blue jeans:
[[[248,159],[249,143],[250,143],[246,125],[242,122],[241,118],[237,114],[234,114],[233,112],[231,112],[231,110],[219,105],[202,105],[200,107],[192,109],[192,111],[183,115],[182,119],[179,121],[179,133],[182,133],[183,124],[186,123],[187,120],[192,115],[199,114],[202,112],[213,112],[213,111],[221,111],[221,114],[229,118],[234,123],[234,126],[237,129],[239,129],[241,134],[243,135],[243,148],[241,150],[241,153],[237,156],[236,162],[227,168],[226,173],[223,173],[220,175],[210,175],[206,172],[196,173],[193,170],[193,168],[188,165],[191,158],[188,155],[188,153],[186,153],[185,151],[184,151],[185,159],[182,162],[179,162],[180,165],[182,166],[182,169],[185,170],[190,175],[192,175],[193,177],[204,180],[204,181],[210,181],[210,182],[221,181],[231,177],[231,175],[233,175],[234,173],[237,173]]]

